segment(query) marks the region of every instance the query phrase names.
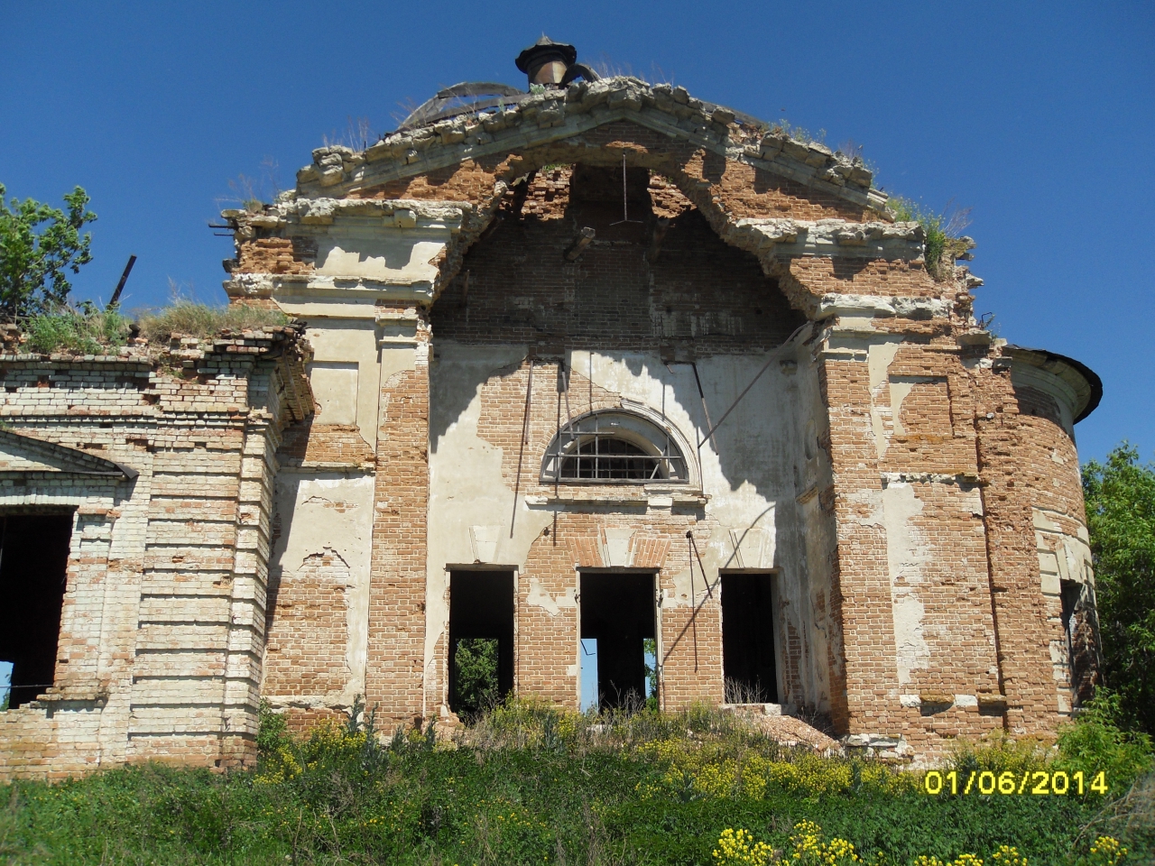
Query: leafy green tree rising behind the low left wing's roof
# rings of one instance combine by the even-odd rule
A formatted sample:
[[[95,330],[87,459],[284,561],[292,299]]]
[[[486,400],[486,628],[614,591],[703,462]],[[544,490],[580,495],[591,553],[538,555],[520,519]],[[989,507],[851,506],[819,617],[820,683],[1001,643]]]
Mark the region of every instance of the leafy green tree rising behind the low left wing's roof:
[[[54,313],[68,300],[65,274],[92,261],[92,236],[80,230],[96,219],[81,187],[65,195],[68,212],[35,199],[12,199],[0,184],[0,315],[8,320]]]

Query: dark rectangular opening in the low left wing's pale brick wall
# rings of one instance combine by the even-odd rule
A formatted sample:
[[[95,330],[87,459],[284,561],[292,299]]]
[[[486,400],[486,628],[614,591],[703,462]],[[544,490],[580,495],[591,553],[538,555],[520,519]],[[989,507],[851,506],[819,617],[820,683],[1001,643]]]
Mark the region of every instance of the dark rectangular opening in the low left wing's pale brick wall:
[[[0,517],[0,662],[12,664],[12,708],[55,675],[72,523],[70,514]]]

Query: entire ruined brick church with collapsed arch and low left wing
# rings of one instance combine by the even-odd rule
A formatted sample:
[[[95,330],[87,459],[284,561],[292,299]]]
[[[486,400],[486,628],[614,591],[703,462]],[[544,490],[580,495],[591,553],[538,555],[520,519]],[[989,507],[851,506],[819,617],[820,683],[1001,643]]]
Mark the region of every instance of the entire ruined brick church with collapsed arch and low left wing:
[[[261,699],[450,719],[464,637],[568,708],[582,639],[610,704],[649,639],[666,709],[915,757],[1086,696],[1095,374],[981,327],[860,160],[519,66],[225,212],[232,301],[303,324],[6,343],[0,776],[248,763]]]

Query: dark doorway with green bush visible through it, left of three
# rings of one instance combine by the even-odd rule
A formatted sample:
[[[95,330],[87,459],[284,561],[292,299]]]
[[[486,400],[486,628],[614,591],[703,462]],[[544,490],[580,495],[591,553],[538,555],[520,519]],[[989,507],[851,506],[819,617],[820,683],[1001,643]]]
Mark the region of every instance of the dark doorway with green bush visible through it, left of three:
[[[465,719],[513,690],[513,572],[449,573],[449,708]]]

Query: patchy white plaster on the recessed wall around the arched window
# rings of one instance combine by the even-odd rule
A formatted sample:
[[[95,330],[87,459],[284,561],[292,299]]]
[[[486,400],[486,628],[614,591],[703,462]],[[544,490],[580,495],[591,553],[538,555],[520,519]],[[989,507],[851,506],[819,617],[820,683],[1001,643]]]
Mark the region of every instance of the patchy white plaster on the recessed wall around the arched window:
[[[526,353],[524,346],[437,343],[437,360],[431,372],[427,673],[438,663],[437,643],[448,626],[446,567],[479,559],[523,569],[530,545],[552,518],[549,508],[527,502],[524,491],[514,501],[514,491],[501,476],[500,450],[477,435],[482,386],[499,375],[502,368],[519,364]],[[792,358],[792,354],[785,353],[785,357]],[[766,365],[767,358],[766,354],[714,356],[698,361],[714,421],[733,404]],[[699,461],[694,446],[707,433],[708,425],[694,371],[688,364],[668,366],[656,353],[587,351],[569,352],[567,364],[576,374],[591,378],[595,386],[641,404],[655,415],[664,415],[688,443],[687,460]],[[825,418],[825,413],[813,375],[806,385],[806,410],[800,412],[799,379],[795,373],[795,365],[783,366],[780,358],[775,358],[716,431],[713,442],[702,443],[700,465],[694,475],[700,477],[708,502],[703,514],[706,524],[695,535],[705,538],[708,527],[709,542],[699,544],[699,548],[706,573],[715,585],[720,569],[777,569],[777,596],[788,611],[783,615],[790,617],[793,627],[804,635],[803,700],[817,704],[820,701],[828,703],[825,685],[828,678],[825,670],[820,670],[826,663],[825,630],[828,626],[815,630],[812,588],[806,574],[808,533],[796,498],[802,493],[798,484],[807,463],[800,431],[807,421],[812,426],[825,425],[822,419],[814,420],[820,415]],[[535,398],[556,401],[553,378],[550,376],[547,383],[539,381],[535,379]],[[571,411],[575,416],[588,411],[588,397],[581,393],[580,380],[574,380],[571,388]],[[526,455],[527,480],[536,481],[542,456]],[[814,454],[810,463],[819,466],[821,458]],[[810,522],[824,520],[812,516]],[[825,544],[820,540],[819,546]],[[825,554],[818,558],[826,559]],[[694,603],[688,570],[664,576],[672,578],[676,587],[673,597],[663,600],[664,606]],[[531,580],[532,575],[527,578]],[[576,591],[576,582],[575,573],[573,591]],[[694,590],[696,602],[701,603],[706,588],[700,577],[694,581]],[[571,592],[561,598],[538,598],[537,602],[546,610],[574,604]],[[784,630],[780,622],[774,624],[774,628],[782,659]],[[814,647],[820,652],[812,658],[811,648]],[[440,696],[434,700],[440,701]]]

